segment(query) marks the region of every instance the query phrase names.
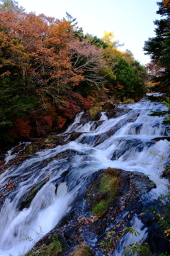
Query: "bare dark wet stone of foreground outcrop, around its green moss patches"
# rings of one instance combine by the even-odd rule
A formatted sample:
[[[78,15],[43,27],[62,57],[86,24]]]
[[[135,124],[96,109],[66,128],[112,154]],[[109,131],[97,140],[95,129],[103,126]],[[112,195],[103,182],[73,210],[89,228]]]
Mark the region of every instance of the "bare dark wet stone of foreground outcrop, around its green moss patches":
[[[109,172],[120,177],[118,190],[109,201],[106,213],[102,216],[92,215],[94,202],[109,196],[108,193],[100,195],[98,192],[101,178]],[[106,230],[112,228],[117,235],[123,235],[123,229],[130,226],[130,220],[142,211],[142,203],[145,201],[143,196],[154,186],[154,183],[140,172],[107,169],[91,174],[79,189],[69,213],[52,230],[52,233],[62,235],[67,241],[67,252],[64,255],[69,255],[82,242],[89,245],[95,255],[102,255],[99,243],[107,239]]]

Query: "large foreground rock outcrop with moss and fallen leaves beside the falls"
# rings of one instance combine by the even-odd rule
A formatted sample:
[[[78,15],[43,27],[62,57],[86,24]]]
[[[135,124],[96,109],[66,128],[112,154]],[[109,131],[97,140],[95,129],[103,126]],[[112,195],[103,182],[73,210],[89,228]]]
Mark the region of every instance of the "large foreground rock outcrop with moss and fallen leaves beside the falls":
[[[58,255],[74,256],[76,248],[82,245],[91,248],[88,255],[113,255],[119,243],[118,238],[123,237],[125,228],[131,226],[130,222],[136,215],[144,225],[149,226],[148,236],[151,236],[155,224],[153,221],[148,223],[148,216],[146,220],[143,209],[149,207],[145,195],[152,188],[155,188],[155,184],[140,172],[108,168],[92,174],[86,179],[84,187],[79,189],[69,213],[37,246],[48,245],[49,236],[57,234],[63,246]],[[152,219],[151,216],[149,218]],[[111,239],[108,232],[115,234],[112,246],[108,246],[108,240]],[[160,234],[161,230],[157,228],[154,235],[157,237]],[[101,246],[103,241],[106,244],[104,247]],[[163,238],[162,242],[164,247],[160,250],[167,251],[167,242]]]

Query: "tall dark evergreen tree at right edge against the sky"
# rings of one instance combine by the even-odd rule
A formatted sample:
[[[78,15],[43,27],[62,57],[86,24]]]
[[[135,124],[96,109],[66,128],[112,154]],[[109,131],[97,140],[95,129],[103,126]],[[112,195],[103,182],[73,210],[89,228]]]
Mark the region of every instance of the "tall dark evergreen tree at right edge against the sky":
[[[168,92],[170,89],[170,8],[169,1],[157,3],[160,14],[164,18],[154,21],[156,36],[145,41],[144,50],[152,58],[154,65],[159,65],[162,70],[159,77],[154,77],[154,82],[159,82],[159,90]]]

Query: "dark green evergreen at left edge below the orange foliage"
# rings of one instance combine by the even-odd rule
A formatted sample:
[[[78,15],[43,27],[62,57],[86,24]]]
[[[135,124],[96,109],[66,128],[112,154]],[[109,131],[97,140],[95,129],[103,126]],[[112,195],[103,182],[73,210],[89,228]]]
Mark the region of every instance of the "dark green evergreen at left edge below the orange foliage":
[[[20,120],[20,128],[23,127],[20,136],[28,137],[29,113],[37,104],[35,95],[26,90],[22,77],[10,75],[0,80],[0,143],[13,142],[18,137],[16,129],[11,132],[17,119]]]

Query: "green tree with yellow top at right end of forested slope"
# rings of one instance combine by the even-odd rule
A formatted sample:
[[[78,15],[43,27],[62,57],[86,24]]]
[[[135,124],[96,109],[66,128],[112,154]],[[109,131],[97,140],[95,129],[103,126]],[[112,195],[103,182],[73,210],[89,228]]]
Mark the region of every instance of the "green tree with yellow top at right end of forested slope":
[[[133,97],[139,100],[145,93],[146,69],[134,59],[130,50],[121,52],[115,44],[109,43],[109,36],[111,33],[105,38],[108,47],[102,51],[106,63],[102,70],[107,79],[105,86],[111,94],[120,95],[122,99]]]

